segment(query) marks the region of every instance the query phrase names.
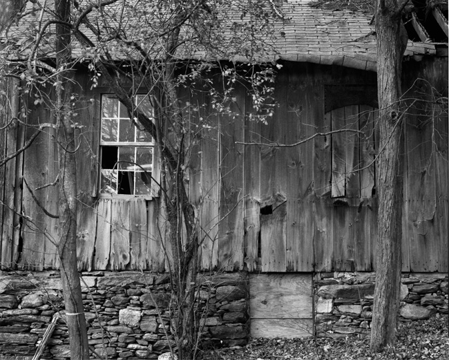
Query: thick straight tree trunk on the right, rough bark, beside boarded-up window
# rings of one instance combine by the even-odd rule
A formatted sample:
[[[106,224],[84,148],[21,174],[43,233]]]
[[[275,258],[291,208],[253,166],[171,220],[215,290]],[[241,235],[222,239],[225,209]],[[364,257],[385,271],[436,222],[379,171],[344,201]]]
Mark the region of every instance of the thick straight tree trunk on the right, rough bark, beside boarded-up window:
[[[377,86],[379,97],[379,191],[376,288],[371,350],[381,351],[396,339],[401,285],[403,114],[401,64],[407,33],[396,0],[376,7]]]

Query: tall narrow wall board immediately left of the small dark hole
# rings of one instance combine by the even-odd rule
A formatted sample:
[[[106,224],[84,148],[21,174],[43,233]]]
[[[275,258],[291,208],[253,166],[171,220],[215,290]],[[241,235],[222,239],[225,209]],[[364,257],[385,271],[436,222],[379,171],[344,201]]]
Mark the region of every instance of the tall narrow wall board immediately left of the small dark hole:
[[[252,113],[251,97],[246,97],[247,113]],[[245,142],[260,142],[260,122],[245,118]],[[260,146],[245,146],[243,193],[245,195],[245,264],[248,271],[257,267],[260,238]]]

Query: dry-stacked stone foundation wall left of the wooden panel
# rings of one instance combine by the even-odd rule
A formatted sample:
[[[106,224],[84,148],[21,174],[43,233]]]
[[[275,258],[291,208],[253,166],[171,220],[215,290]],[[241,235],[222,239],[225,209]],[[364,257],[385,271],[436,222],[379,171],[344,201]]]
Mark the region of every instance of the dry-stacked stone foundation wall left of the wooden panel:
[[[174,344],[167,274],[95,272],[82,280],[89,345],[99,355],[157,359]],[[245,345],[248,274],[202,274],[199,283],[203,344]],[[64,318],[59,272],[0,274],[0,359],[31,360],[56,312]],[[68,331],[59,320],[41,359],[68,357]]]

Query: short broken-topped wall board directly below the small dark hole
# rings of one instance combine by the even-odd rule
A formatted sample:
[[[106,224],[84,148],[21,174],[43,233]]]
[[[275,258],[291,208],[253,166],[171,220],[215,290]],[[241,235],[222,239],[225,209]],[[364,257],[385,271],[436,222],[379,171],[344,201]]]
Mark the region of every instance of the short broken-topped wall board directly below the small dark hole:
[[[262,272],[285,272],[286,258],[286,216],[285,198],[279,198],[273,205],[271,214],[260,217],[260,253]]]

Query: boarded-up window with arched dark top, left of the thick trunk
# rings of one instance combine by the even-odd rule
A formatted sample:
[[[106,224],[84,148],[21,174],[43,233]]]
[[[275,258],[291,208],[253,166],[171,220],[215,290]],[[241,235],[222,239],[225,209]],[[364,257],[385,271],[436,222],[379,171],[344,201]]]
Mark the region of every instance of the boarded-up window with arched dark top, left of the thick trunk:
[[[376,87],[329,85],[325,112],[331,120],[332,198],[371,198],[376,193]]]

